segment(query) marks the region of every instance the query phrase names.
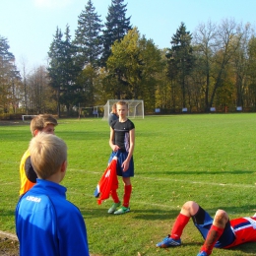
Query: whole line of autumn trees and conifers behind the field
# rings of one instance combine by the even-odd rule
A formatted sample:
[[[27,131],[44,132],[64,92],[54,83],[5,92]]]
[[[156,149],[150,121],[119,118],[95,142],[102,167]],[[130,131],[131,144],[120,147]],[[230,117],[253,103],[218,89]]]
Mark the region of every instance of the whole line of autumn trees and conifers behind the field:
[[[56,29],[47,66],[18,71],[0,35],[0,113],[72,115],[107,99],[143,99],[146,113],[255,111],[256,39],[250,24],[225,19],[181,22],[160,49],[126,17],[127,4],[111,0],[103,24],[89,0],[72,39]]]

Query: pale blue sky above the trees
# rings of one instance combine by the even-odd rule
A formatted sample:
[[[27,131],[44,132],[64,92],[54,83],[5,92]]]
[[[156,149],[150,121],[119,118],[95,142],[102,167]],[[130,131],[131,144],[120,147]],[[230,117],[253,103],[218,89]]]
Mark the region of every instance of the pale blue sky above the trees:
[[[102,23],[111,0],[92,0]],[[18,69],[47,64],[47,52],[57,27],[69,25],[72,39],[78,17],[88,0],[0,0],[0,35],[7,38]],[[188,32],[208,21],[224,19],[256,25],[256,0],[125,0],[126,17],[141,35],[159,48],[171,47],[171,36],[181,22]]]

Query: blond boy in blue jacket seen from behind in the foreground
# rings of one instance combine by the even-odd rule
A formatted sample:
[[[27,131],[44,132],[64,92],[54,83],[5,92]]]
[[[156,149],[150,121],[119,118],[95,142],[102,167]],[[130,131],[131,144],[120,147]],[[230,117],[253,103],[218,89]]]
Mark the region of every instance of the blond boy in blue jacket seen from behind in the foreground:
[[[32,138],[30,153],[38,179],[16,208],[20,256],[89,256],[82,214],[59,185],[67,168],[66,144],[40,133]]]

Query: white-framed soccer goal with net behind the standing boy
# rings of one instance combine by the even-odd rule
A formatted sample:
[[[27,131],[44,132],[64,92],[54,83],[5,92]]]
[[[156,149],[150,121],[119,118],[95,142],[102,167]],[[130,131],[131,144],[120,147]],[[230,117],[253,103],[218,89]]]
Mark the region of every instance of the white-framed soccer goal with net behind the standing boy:
[[[128,103],[128,118],[144,118],[144,101],[142,99],[108,99],[104,105],[103,119],[108,119],[108,115],[112,111],[112,105],[119,100]]]

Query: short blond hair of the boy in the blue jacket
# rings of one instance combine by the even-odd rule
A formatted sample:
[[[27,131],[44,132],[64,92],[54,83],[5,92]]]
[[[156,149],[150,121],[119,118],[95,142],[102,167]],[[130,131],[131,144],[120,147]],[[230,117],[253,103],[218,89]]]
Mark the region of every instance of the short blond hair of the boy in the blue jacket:
[[[37,176],[47,179],[67,160],[67,145],[56,135],[39,133],[30,143],[32,167]]]

